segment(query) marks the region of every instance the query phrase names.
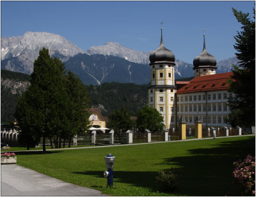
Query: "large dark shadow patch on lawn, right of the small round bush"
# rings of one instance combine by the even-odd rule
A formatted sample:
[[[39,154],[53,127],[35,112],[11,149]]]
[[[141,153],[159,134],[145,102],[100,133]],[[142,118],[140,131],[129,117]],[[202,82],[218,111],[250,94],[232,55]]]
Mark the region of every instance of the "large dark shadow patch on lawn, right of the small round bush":
[[[179,194],[188,196],[237,196],[232,184],[233,163],[255,156],[255,138],[232,142],[218,142],[209,149],[190,149],[189,156],[164,158],[163,163],[175,164],[175,173],[180,175]]]

